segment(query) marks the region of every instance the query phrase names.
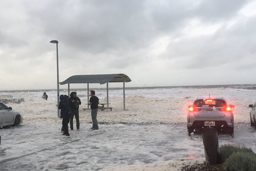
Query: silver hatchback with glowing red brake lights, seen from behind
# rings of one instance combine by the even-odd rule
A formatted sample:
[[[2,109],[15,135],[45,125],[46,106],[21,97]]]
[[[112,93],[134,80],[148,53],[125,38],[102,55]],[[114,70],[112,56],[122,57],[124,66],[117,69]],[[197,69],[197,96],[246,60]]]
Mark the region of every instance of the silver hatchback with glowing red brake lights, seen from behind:
[[[197,98],[188,106],[187,129],[189,134],[202,128],[214,127],[217,130],[234,133],[234,116],[227,101],[221,98]]]

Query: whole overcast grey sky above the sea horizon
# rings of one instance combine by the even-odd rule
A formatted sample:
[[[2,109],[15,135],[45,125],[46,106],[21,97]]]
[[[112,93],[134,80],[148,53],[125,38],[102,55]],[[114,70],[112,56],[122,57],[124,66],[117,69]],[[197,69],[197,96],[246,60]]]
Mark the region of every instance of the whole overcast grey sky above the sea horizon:
[[[60,82],[124,73],[127,87],[255,84],[255,9],[251,0],[0,1],[0,90],[56,89],[51,40]]]

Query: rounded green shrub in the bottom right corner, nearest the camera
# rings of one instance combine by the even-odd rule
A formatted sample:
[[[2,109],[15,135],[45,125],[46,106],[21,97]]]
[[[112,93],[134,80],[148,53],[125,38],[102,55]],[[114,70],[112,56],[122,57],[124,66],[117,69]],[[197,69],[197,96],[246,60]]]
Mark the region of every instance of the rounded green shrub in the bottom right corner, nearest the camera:
[[[248,152],[232,153],[223,167],[227,171],[255,171],[256,154]]]

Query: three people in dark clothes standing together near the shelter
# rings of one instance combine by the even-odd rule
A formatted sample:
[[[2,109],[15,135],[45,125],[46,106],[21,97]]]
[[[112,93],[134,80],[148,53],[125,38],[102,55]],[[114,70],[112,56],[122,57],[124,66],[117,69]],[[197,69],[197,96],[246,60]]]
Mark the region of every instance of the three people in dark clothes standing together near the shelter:
[[[97,122],[97,113],[98,113],[98,104],[99,98],[95,96],[95,91],[91,90],[91,98],[89,100],[89,105],[91,105],[91,119],[92,119],[92,130],[99,129]],[[74,130],[73,127],[73,118],[76,119],[76,128],[79,130],[79,105],[81,104],[80,99],[77,97],[76,92],[71,92],[70,97],[67,95],[60,95],[60,103],[58,108],[61,109],[61,118],[62,118],[62,129],[64,133],[62,135],[69,136],[68,132],[68,123],[70,120],[70,129]]]

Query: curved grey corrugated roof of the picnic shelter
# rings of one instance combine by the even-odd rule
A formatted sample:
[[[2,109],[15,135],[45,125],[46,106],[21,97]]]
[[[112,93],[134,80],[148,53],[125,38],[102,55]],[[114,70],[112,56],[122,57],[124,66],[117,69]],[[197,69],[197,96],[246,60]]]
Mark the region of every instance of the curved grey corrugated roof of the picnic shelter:
[[[125,74],[100,74],[100,75],[75,75],[71,76],[65,81],[60,82],[63,84],[79,84],[79,83],[99,83],[105,84],[108,82],[130,82],[132,81]]]

